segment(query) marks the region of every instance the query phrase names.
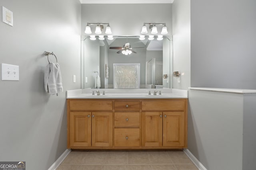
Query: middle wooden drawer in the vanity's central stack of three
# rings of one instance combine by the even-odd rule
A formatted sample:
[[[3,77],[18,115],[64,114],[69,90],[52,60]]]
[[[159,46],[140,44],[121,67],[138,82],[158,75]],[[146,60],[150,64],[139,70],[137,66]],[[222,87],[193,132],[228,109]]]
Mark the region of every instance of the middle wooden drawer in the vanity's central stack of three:
[[[115,127],[140,127],[140,112],[116,112]]]

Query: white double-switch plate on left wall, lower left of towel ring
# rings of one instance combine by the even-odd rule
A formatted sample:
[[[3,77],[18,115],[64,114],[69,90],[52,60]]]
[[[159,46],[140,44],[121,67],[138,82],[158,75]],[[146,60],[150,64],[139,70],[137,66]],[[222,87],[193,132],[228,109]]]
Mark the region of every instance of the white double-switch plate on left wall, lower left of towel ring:
[[[19,66],[2,63],[2,80],[19,80]]]

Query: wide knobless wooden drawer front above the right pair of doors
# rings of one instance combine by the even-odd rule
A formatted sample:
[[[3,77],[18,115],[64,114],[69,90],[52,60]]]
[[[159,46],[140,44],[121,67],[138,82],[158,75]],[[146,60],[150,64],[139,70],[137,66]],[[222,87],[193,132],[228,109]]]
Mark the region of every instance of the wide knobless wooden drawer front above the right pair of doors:
[[[184,110],[185,100],[184,99],[173,99],[173,100],[157,100],[157,101],[142,101],[142,110]]]

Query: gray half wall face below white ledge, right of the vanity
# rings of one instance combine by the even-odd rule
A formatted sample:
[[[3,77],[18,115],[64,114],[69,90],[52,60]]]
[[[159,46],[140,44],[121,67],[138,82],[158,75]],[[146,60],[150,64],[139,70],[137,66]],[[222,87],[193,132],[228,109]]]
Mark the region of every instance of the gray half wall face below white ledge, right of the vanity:
[[[189,90],[188,96],[190,152],[207,170],[242,170],[243,94]]]

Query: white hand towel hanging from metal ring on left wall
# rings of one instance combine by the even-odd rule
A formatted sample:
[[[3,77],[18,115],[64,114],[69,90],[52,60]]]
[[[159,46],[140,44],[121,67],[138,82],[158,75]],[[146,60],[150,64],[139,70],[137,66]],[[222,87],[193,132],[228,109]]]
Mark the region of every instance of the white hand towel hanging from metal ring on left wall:
[[[58,63],[49,63],[44,71],[44,88],[47,93],[52,95],[63,92],[60,65]]]

